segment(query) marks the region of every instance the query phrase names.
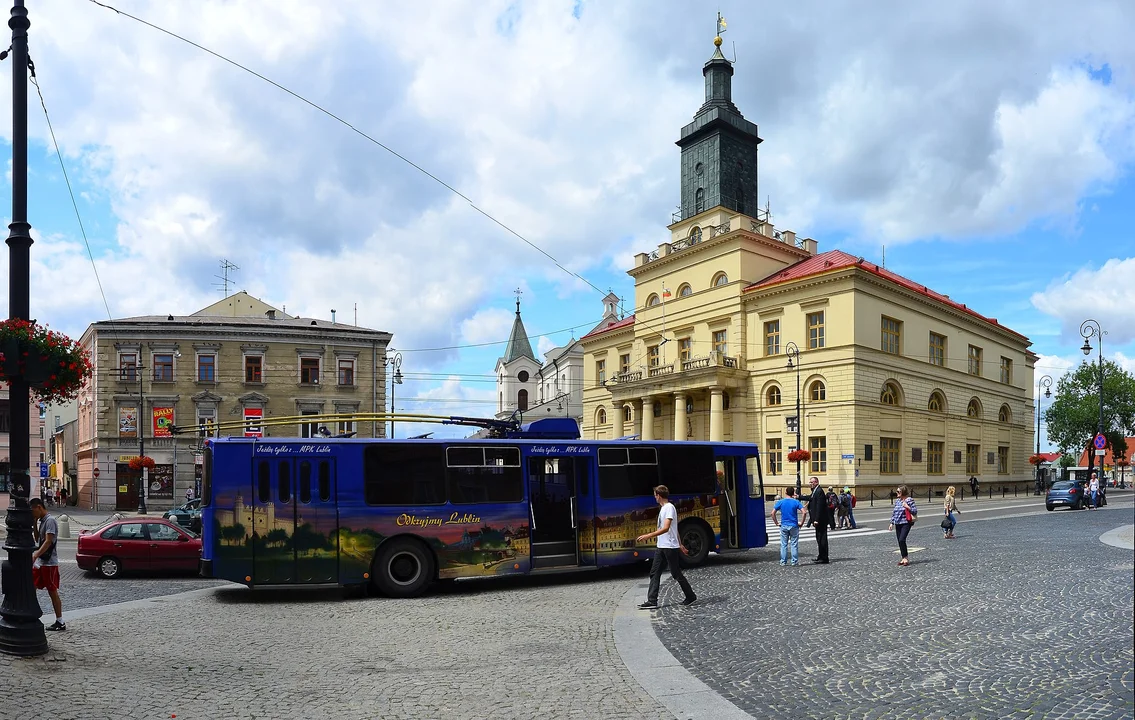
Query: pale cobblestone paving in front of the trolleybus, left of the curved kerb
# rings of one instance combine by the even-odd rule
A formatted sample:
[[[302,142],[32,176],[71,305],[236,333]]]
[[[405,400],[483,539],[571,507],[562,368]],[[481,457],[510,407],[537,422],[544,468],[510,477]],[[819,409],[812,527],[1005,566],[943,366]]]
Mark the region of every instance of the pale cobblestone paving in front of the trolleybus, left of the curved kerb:
[[[0,655],[0,718],[672,718],[614,646],[615,608],[645,574],[413,601],[229,586],[79,618],[47,658]]]

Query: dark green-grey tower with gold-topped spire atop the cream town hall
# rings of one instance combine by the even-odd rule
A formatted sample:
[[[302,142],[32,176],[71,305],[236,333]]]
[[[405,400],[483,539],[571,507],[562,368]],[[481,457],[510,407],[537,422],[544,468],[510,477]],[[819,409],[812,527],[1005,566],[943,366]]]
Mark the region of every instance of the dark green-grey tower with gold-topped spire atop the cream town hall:
[[[718,16],[714,53],[701,68],[706,100],[682,128],[681,219],[724,206],[757,211],[757,126],[733,104],[733,64],[721,52],[724,19]]]

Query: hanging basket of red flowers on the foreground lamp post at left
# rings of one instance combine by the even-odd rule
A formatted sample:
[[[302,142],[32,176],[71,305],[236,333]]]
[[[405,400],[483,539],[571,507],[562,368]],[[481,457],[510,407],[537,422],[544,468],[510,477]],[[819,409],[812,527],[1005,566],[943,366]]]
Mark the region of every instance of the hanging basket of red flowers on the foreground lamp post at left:
[[[23,379],[44,403],[78,396],[91,357],[76,341],[32,320],[0,320],[0,380]]]

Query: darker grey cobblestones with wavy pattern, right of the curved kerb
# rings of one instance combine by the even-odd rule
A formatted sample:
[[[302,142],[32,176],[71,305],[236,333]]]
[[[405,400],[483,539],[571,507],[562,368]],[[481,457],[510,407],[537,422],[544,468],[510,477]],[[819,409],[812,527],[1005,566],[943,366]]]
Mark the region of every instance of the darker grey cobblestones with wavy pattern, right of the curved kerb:
[[[748,553],[691,574],[698,605],[655,628],[755,718],[1132,718],[1135,555],[1099,542],[1129,503],[964,521],[955,541],[924,516],[909,568],[893,534],[839,538],[829,566]]]

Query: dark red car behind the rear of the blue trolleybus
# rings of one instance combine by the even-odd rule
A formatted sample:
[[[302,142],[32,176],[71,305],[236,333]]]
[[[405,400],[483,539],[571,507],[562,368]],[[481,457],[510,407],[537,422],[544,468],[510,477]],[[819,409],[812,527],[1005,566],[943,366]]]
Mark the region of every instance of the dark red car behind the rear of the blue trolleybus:
[[[116,578],[123,570],[193,570],[201,538],[167,520],[115,520],[78,536],[78,567]]]

